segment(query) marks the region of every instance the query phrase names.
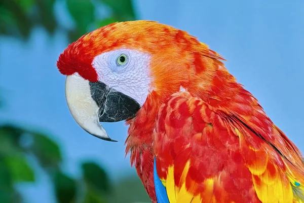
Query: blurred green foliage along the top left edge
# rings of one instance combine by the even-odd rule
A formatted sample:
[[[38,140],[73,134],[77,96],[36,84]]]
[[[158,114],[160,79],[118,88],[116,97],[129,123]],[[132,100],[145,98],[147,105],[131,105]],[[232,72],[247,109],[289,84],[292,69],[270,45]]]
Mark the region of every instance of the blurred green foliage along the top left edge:
[[[74,26],[65,26],[55,12],[64,3]],[[102,18],[98,9],[102,7]],[[134,20],[131,0],[0,0],[0,35],[27,40],[35,26],[43,26],[51,35],[57,30],[75,41],[84,33],[113,22]]]

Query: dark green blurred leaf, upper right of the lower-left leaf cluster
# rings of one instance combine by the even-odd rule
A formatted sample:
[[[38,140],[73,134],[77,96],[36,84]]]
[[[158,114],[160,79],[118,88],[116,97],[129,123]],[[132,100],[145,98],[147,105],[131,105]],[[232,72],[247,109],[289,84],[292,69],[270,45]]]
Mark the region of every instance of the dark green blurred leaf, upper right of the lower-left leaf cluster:
[[[57,168],[62,160],[59,146],[44,134],[33,133],[31,151],[44,167]]]

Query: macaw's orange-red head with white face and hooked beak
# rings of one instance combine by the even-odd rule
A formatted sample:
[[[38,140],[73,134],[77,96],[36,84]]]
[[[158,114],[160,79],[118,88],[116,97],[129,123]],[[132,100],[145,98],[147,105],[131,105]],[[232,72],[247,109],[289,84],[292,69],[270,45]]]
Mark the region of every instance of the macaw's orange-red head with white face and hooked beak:
[[[204,54],[220,58],[185,31],[139,20],[84,35],[60,54],[57,66],[66,75],[66,100],[75,121],[93,136],[114,141],[100,122],[135,117],[148,97],[161,101],[184,88],[204,88],[212,74],[203,70]]]

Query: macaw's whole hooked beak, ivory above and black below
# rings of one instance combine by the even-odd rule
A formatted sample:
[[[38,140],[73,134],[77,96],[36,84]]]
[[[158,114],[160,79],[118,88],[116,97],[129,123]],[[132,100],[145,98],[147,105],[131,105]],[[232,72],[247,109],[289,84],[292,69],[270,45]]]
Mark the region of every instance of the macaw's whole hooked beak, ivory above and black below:
[[[66,77],[65,96],[75,121],[87,132],[102,140],[112,140],[100,122],[132,118],[140,106],[131,97],[108,88],[101,82],[89,82],[75,73]]]

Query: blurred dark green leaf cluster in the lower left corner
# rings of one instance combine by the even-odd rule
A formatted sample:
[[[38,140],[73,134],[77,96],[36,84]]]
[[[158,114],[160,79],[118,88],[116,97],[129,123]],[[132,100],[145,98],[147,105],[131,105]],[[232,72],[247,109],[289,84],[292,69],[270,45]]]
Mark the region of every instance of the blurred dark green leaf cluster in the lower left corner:
[[[54,192],[60,203],[90,202],[86,199],[94,188],[95,198],[105,198],[111,192],[110,181],[102,167],[83,162],[83,176],[76,180],[62,170],[59,146],[47,134],[13,125],[0,126],[0,202],[22,202],[15,186],[34,182],[35,171],[29,158],[40,163],[52,180]],[[86,190],[86,192],[82,192]],[[83,194],[83,195],[80,195]]]

